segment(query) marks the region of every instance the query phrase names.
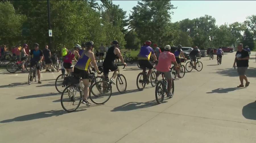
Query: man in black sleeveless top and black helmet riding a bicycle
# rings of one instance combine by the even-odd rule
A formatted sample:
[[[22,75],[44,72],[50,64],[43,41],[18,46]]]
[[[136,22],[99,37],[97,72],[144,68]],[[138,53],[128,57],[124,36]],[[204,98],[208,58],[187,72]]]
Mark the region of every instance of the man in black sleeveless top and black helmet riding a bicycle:
[[[120,50],[118,49],[118,41],[114,40],[112,41],[112,46],[108,49],[108,52],[106,54],[106,58],[103,62],[103,73],[105,75],[105,79],[108,78],[108,73],[109,70],[114,71],[112,77],[110,78],[110,81],[115,84],[115,77],[118,75],[119,73],[119,68],[117,67],[117,65],[115,65],[115,58],[120,58],[121,62],[127,66],[127,64],[124,62],[123,60],[123,56],[120,52]]]

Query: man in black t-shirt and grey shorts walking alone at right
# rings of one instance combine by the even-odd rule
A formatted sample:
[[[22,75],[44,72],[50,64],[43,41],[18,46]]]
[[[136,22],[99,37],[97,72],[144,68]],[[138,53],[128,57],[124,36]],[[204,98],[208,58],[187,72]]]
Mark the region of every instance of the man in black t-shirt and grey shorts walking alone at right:
[[[249,86],[250,82],[247,80],[245,72],[249,66],[249,54],[248,51],[243,49],[243,44],[238,44],[238,51],[236,52],[236,58],[234,62],[234,67],[237,66],[237,71],[241,84],[237,87],[244,87],[243,80],[245,80],[245,87]]]

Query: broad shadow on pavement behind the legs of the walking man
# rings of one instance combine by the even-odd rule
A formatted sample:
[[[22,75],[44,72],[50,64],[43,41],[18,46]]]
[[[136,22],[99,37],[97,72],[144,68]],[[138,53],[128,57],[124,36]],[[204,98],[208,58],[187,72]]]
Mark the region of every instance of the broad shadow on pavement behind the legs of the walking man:
[[[219,70],[216,73],[223,75],[223,76],[230,76],[230,77],[237,77],[239,82],[239,77],[237,73],[237,69],[229,68],[224,70]],[[245,73],[247,77],[256,77],[256,68],[249,67]],[[250,79],[248,79],[250,81]]]

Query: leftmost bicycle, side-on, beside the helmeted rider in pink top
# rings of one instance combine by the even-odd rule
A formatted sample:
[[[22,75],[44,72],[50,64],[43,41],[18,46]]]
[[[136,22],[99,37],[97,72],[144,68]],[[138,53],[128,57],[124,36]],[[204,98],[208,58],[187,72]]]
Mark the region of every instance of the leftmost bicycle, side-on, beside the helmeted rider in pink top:
[[[24,67],[27,71],[28,70],[28,62],[27,62],[27,59],[26,60],[23,60],[23,61],[16,61],[16,62],[9,62],[7,65],[6,65],[6,70],[10,73],[15,73],[16,71],[18,70],[21,70],[22,69],[22,64],[24,63]]]

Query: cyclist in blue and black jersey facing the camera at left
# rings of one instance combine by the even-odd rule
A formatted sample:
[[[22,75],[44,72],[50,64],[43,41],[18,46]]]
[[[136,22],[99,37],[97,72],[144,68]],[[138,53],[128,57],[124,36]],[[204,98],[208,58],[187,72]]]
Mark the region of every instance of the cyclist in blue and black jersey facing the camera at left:
[[[41,62],[43,60],[43,51],[39,49],[39,44],[35,43],[34,44],[34,49],[30,51],[30,55],[32,55],[32,58],[30,59],[30,67],[33,67],[36,65],[36,70],[38,74],[38,83],[42,83],[40,81],[40,69],[41,69]],[[32,76],[29,79],[30,81],[32,80]]]

